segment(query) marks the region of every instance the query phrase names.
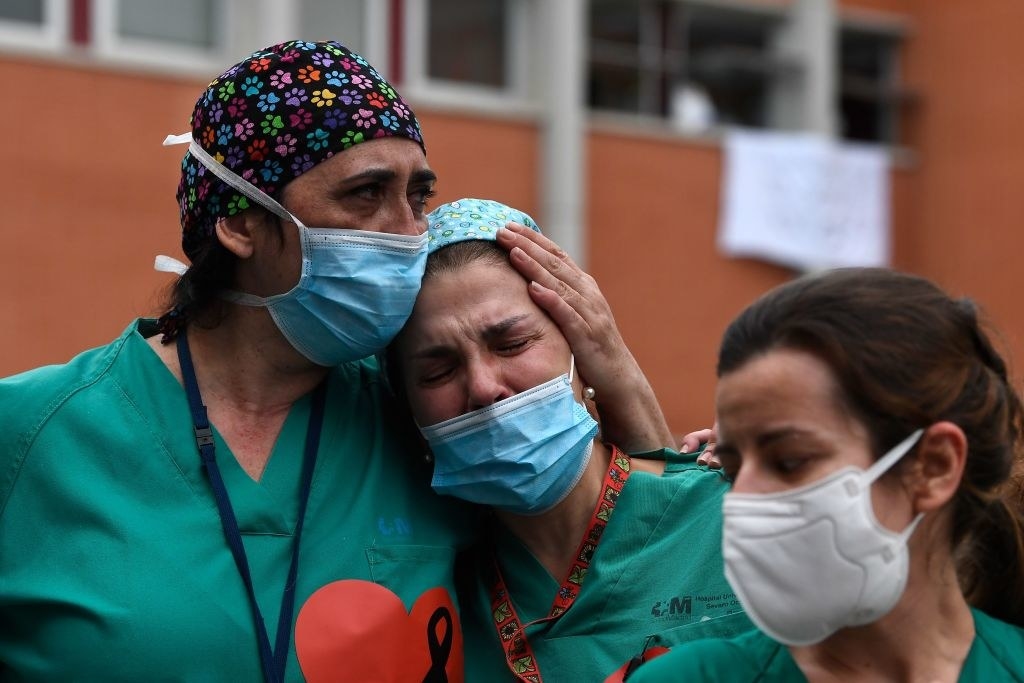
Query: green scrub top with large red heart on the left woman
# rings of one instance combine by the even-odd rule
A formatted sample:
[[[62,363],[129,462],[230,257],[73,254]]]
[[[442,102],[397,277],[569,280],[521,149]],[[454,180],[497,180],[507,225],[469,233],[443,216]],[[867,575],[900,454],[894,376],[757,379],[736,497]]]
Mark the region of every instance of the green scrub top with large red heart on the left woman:
[[[154,333],[136,322],[68,365],[0,381],[2,681],[262,680],[185,394],[145,343]],[[309,396],[293,405],[259,481],[215,434],[271,642],[309,410]],[[409,653],[417,681],[439,657],[460,667],[458,615],[455,644],[433,658],[425,624],[435,607],[454,611],[455,557],[476,514],[430,490],[398,414],[375,362],[332,371],[288,681],[325,680],[332,663],[372,677],[393,669],[389,652]]]

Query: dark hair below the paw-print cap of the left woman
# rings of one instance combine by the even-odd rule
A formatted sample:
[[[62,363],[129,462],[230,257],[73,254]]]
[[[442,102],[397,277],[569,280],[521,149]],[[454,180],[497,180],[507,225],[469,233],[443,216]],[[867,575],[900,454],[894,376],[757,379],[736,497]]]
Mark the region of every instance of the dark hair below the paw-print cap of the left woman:
[[[263,214],[264,223],[276,230],[279,242],[284,245],[280,218],[261,207],[247,211]],[[238,257],[216,237],[196,248],[191,265],[166,294],[163,307],[166,312],[157,322],[158,331],[163,335],[161,342],[173,341],[188,325],[212,328],[224,318],[225,302],[220,295],[233,286],[238,264]]]

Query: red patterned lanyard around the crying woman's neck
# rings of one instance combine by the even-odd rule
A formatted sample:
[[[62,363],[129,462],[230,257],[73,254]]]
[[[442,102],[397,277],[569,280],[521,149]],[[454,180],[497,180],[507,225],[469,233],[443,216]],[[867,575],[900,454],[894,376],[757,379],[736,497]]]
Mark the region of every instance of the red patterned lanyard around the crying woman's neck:
[[[547,616],[522,624],[515,607],[512,606],[512,598],[509,596],[508,587],[505,585],[501,567],[498,565],[498,555],[492,552],[490,568],[494,573],[487,578],[492,587],[490,613],[495,620],[498,639],[502,643],[502,649],[505,650],[505,660],[520,681],[542,683],[541,669],[537,657],[534,656],[534,648],[526,640],[526,628],[535,624],[557,620],[575,602],[580,588],[583,586],[583,580],[587,575],[587,567],[590,566],[590,560],[594,557],[594,551],[597,550],[597,543],[601,540],[604,527],[608,525],[608,519],[611,517],[611,511],[618,500],[618,494],[622,493],[629,477],[630,457],[612,446],[611,462],[608,463],[608,472],[604,475],[601,496],[594,507],[590,525],[580,542],[575,559],[562,581],[561,588],[555,594],[555,599],[551,603],[551,611]]]

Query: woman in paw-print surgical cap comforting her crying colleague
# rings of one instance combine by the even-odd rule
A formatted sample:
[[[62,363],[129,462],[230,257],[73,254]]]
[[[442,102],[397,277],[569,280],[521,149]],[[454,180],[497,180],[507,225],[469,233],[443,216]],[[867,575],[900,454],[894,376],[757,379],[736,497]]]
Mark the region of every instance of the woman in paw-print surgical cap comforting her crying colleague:
[[[0,381],[0,680],[462,680],[474,514],[430,490],[373,359],[426,260],[416,116],[291,41],[190,123],[163,314]]]

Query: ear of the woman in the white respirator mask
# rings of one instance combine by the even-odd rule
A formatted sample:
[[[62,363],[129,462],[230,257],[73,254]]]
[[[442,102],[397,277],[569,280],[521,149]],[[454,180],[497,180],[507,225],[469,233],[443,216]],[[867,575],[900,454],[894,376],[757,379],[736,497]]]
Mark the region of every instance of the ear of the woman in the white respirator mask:
[[[907,485],[915,512],[931,512],[948,503],[959,488],[967,463],[967,436],[952,422],[936,422],[918,443]]]

